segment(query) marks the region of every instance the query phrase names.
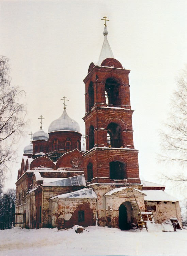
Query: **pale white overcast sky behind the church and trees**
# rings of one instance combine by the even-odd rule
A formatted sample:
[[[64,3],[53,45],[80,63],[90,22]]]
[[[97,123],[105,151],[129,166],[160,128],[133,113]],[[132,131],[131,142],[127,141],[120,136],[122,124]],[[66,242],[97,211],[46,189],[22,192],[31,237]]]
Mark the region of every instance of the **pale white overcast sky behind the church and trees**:
[[[85,134],[82,80],[90,63],[98,61],[106,15],[114,58],[131,70],[140,176],[158,182],[155,175],[171,168],[157,162],[158,131],[167,118],[175,76],[187,62],[186,10],[186,0],[0,1],[0,54],[10,59],[12,84],[26,91],[28,133],[40,129],[41,114],[48,130],[63,112],[65,95],[68,115]],[[30,136],[20,141],[18,162],[29,143]],[[19,166],[13,164],[7,187],[16,182]]]

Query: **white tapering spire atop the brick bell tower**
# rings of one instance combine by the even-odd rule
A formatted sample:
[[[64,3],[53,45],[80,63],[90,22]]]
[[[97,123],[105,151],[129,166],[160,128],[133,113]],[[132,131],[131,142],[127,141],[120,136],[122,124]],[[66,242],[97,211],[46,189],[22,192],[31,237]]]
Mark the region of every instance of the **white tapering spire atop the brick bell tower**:
[[[97,62],[97,66],[100,66],[104,59],[114,58],[112,50],[109,45],[109,42],[107,40],[108,31],[107,31],[106,26],[105,26],[105,30],[104,30],[103,34],[104,34],[105,39],[104,39],[103,46],[102,46],[102,49],[101,49],[101,52],[99,55],[99,60]]]

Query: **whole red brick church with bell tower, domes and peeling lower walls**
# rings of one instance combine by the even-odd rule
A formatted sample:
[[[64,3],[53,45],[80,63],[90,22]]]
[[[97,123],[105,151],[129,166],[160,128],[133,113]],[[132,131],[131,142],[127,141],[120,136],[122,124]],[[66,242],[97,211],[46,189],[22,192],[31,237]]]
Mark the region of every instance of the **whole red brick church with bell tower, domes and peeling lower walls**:
[[[105,17],[106,18],[106,17]],[[106,20],[105,20],[106,22]],[[179,202],[165,186],[139,177],[133,141],[129,72],[107,40],[85,84],[85,146],[79,124],[66,112],[48,132],[33,134],[24,148],[16,182],[16,226],[70,228],[98,225],[120,229],[177,219]]]

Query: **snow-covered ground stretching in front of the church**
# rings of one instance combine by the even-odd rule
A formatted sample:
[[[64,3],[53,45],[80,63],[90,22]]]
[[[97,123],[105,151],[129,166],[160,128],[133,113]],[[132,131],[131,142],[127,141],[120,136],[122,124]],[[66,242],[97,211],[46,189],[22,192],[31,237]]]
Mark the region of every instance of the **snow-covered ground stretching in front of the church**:
[[[162,232],[159,226],[150,232],[92,226],[80,234],[57,228],[0,230],[0,255],[187,255],[187,230]]]

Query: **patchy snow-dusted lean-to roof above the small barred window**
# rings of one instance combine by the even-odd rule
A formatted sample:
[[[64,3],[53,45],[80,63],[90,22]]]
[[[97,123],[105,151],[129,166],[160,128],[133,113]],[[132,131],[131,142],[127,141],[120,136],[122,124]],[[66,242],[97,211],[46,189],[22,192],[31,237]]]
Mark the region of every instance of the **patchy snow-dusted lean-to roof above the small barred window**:
[[[54,198],[97,198],[97,195],[92,188],[83,188],[75,192],[52,197],[51,199]]]

